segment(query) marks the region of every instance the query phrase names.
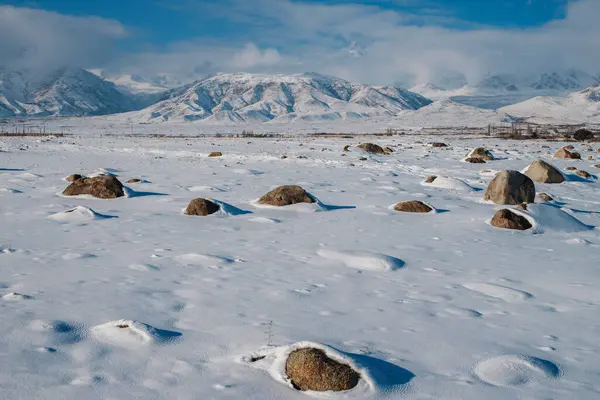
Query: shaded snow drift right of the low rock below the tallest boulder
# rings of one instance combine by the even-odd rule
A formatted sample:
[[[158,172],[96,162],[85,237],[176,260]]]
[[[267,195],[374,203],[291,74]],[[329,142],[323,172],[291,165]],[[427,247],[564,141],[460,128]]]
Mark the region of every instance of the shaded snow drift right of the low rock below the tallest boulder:
[[[511,209],[522,215],[533,225],[534,233],[556,231],[564,233],[582,232],[594,229],[569,214],[560,207],[552,204],[528,204],[527,211]]]

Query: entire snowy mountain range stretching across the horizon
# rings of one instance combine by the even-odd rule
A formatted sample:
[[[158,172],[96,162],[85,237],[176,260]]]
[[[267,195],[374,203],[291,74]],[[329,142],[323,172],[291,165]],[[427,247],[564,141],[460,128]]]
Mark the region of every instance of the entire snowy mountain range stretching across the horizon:
[[[574,70],[543,73],[535,79],[492,75],[475,85],[455,74],[406,90],[316,73],[216,74],[182,84],[167,74],[148,78],[77,68],[44,74],[0,69],[0,117],[109,114],[137,122],[366,118],[403,118],[415,123],[434,119],[444,124],[452,118],[600,122],[600,84],[597,78]]]

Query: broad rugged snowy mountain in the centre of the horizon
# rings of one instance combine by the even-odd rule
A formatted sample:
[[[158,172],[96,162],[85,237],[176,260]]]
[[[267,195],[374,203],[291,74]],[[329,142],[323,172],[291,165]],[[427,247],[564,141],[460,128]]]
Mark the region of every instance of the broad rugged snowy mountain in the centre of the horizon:
[[[268,122],[393,116],[431,101],[393,86],[369,86],[319,74],[217,74],[172,90],[128,117],[140,121]]]

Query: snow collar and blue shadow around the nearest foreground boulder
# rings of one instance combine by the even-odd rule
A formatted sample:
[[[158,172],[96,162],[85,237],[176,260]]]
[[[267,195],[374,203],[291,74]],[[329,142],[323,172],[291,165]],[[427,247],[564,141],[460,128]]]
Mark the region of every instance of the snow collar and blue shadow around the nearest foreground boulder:
[[[285,373],[285,363],[295,350],[315,348],[325,352],[327,357],[349,365],[360,374],[358,385],[345,392],[303,392],[313,396],[343,396],[343,398],[365,399],[377,393],[406,394],[410,391],[410,381],[415,375],[397,365],[362,354],[346,353],[321,343],[298,342],[288,346],[260,349],[250,356],[244,356],[241,361],[251,367],[265,371],[275,381],[295,390]],[[337,397],[337,396],[336,396]]]

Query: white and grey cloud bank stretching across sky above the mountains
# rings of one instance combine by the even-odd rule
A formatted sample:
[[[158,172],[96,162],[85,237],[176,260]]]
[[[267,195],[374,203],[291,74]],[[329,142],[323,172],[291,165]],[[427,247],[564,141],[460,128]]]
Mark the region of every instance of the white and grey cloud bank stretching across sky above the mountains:
[[[28,65],[67,62],[191,80],[217,71],[315,71],[365,83],[425,83],[448,70],[469,81],[491,73],[576,68],[600,72],[600,1],[571,1],[566,16],[540,27],[499,29],[435,13],[416,16],[368,5],[291,0],[187,0],[187,12],[223,21],[237,35],[190,38],[160,50],[114,57],[131,40],[117,21],[0,7],[0,55]],[[364,49],[355,57],[348,46]]]

